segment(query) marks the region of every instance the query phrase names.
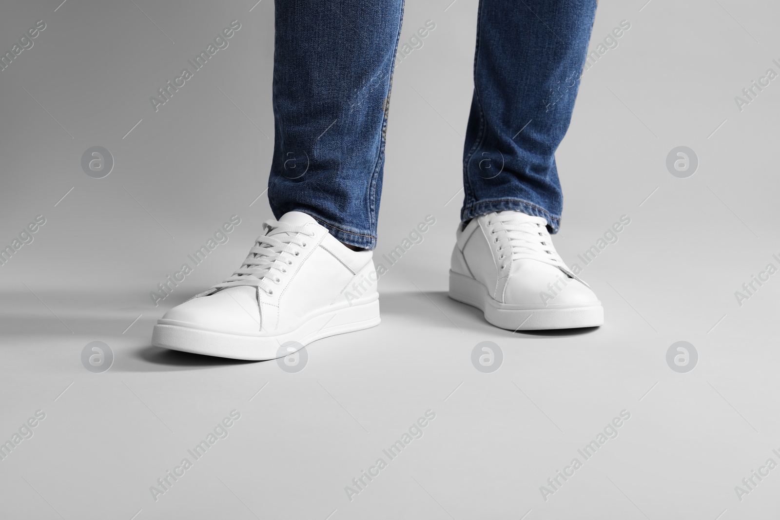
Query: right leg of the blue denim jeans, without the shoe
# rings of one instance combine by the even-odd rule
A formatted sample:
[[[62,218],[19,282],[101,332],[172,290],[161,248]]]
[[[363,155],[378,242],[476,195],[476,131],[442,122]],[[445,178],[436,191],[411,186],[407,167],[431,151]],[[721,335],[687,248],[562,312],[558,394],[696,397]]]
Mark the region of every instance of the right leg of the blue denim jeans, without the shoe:
[[[555,150],[569,128],[596,0],[480,0],[461,219],[502,210],[558,231]]]

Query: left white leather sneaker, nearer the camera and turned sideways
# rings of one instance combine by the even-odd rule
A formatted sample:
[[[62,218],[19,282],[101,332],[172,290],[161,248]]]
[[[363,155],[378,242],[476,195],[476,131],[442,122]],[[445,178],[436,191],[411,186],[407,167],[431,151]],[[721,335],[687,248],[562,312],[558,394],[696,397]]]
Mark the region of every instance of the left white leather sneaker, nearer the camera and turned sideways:
[[[371,251],[349,249],[298,211],[265,221],[263,229],[230,278],[158,320],[152,345],[275,359],[311,341],[379,324]]]

